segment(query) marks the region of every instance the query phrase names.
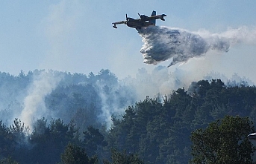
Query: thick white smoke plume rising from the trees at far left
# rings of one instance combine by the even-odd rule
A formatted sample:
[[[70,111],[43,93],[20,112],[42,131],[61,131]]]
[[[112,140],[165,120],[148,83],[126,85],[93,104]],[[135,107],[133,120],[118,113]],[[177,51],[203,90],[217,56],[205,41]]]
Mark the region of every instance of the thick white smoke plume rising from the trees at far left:
[[[45,97],[60,82],[60,77],[54,76],[53,72],[42,71],[40,74],[34,74],[34,81],[28,88],[28,95],[23,101],[24,108],[18,118],[24,122],[25,126],[31,127],[34,120],[41,117],[51,116],[46,109]]]

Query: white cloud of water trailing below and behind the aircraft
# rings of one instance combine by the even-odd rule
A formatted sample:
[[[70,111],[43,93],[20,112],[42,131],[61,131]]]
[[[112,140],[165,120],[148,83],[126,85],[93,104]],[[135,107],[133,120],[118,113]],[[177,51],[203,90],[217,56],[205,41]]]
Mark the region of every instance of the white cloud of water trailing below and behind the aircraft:
[[[179,28],[152,26],[138,30],[143,38],[143,53],[146,64],[156,65],[172,59],[168,67],[190,58],[204,56],[209,50],[228,52],[232,45],[252,44],[256,41],[256,30],[248,27],[229,29],[225,33],[207,31],[189,32]]]

